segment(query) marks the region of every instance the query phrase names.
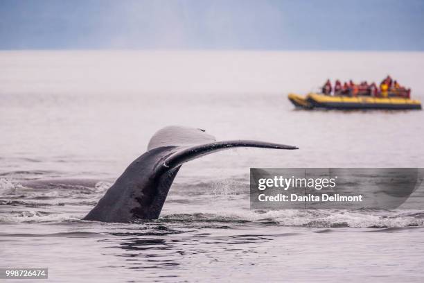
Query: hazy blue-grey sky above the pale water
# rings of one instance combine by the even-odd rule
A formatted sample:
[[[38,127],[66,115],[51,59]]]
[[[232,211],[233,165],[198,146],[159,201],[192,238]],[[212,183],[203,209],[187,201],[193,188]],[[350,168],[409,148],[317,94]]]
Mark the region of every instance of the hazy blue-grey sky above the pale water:
[[[0,49],[424,50],[424,0],[1,0]]]

